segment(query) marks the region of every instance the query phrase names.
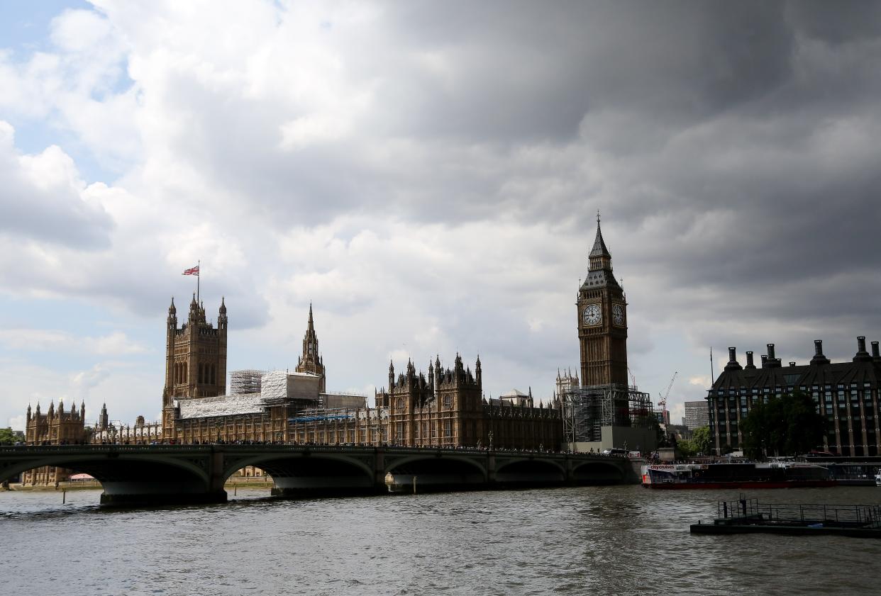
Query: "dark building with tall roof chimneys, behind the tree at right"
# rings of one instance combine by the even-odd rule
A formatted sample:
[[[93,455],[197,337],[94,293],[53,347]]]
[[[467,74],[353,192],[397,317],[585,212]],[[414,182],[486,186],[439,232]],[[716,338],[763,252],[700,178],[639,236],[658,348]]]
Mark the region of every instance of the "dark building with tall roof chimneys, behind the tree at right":
[[[800,390],[811,395],[817,411],[828,420],[823,445],[818,448],[849,456],[881,453],[877,380],[881,379],[881,355],[878,342],[872,342],[870,354],[866,338],[856,340],[851,362],[830,362],[823,355],[823,342],[816,340],[811,362],[800,366],[795,362],[781,366],[773,343],[767,344],[760,368],[753,364],[752,352],[746,352],[746,366],[741,366],[737,350],[729,348],[729,362],[707,396],[714,447],[743,445],[740,425],[753,403]]]

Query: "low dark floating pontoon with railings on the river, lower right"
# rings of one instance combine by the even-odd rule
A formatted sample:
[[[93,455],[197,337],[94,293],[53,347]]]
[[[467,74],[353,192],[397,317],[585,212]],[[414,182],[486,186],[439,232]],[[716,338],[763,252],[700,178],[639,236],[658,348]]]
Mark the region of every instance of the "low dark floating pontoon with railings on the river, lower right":
[[[715,519],[690,526],[692,533],[779,533],[881,538],[878,505],[759,504],[741,496],[719,501]]]

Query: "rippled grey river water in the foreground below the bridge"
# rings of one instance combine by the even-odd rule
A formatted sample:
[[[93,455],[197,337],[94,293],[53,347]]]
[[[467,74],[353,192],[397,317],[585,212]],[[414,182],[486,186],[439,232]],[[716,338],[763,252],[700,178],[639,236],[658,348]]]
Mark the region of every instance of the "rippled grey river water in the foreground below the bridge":
[[[640,486],[262,499],[105,511],[0,493],[4,591],[28,594],[868,594],[881,541],[692,535],[734,491]],[[881,488],[756,490],[877,504]]]

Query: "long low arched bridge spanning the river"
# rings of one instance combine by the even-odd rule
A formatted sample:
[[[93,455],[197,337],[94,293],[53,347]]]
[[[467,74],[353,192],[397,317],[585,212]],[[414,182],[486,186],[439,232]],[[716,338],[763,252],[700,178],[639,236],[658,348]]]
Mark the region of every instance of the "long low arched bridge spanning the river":
[[[226,501],[226,480],[246,466],[275,483],[272,495],[370,494],[624,484],[640,460],[546,453],[346,445],[24,445],[0,447],[0,482],[34,467],[92,475],[102,505]]]

